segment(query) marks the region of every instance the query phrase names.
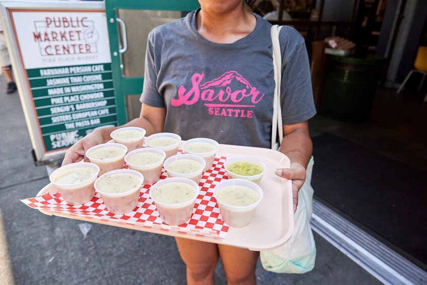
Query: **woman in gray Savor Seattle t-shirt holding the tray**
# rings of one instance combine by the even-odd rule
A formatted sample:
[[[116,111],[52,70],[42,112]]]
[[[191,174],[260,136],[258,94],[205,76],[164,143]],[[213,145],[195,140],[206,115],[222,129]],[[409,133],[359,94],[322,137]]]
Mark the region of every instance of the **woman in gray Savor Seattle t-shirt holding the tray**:
[[[242,0],[199,2],[200,10],[150,32],[141,116],[125,126],[144,128],[147,136],[170,132],[184,140],[206,137],[222,144],[270,148],[275,86],[271,24],[247,12]],[[295,211],[312,155],[307,120],[316,110],[304,39],[283,27],[279,40],[284,132],[280,151],[290,158],[291,168],[277,169],[276,174],[292,180]],[[108,141],[115,129],[98,129],[78,141],[63,164],[84,158],[87,149]],[[189,284],[213,284],[219,256],[229,284],[256,283],[259,252],[181,238],[176,243]]]

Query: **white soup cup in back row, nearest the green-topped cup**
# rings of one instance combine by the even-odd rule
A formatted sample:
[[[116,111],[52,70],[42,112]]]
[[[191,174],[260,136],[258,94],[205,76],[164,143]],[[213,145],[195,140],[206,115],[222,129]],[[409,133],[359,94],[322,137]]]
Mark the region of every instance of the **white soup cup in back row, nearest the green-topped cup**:
[[[206,138],[191,139],[182,144],[182,149],[184,149],[186,153],[194,154],[205,159],[206,166],[203,168],[203,171],[211,169],[218,148],[219,144],[216,141]]]

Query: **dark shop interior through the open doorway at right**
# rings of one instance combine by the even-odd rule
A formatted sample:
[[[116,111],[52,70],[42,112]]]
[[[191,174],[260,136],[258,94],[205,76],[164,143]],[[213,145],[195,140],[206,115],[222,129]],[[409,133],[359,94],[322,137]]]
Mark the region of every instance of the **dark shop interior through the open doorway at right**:
[[[257,5],[306,38],[318,109],[309,122],[315,198],[425,268],[427,3]]]

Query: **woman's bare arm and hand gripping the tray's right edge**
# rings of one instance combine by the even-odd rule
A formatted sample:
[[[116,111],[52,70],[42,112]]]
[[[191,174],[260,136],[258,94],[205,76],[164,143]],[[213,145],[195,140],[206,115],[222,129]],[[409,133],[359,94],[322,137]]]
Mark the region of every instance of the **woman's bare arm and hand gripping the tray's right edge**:
[[[308,122],[283,125],[280,152],[290,159],[290,168],[277,169],[280,177],[292,180],[293,212],[298,205],[298,191],[306,181],[306,168],[313,152]]]

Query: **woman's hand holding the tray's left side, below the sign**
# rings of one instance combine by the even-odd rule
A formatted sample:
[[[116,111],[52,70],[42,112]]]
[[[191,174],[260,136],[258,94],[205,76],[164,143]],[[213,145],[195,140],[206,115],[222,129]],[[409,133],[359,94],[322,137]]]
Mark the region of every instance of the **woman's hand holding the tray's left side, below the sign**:
[[[102,129],[95,130],[72,145],[65,153],[62,165],[64,166],[70,163],[80,162],[82,160],[89,162],[89,159],[85,156],[85,153],[92,146],[105,142],[102,131]]]

